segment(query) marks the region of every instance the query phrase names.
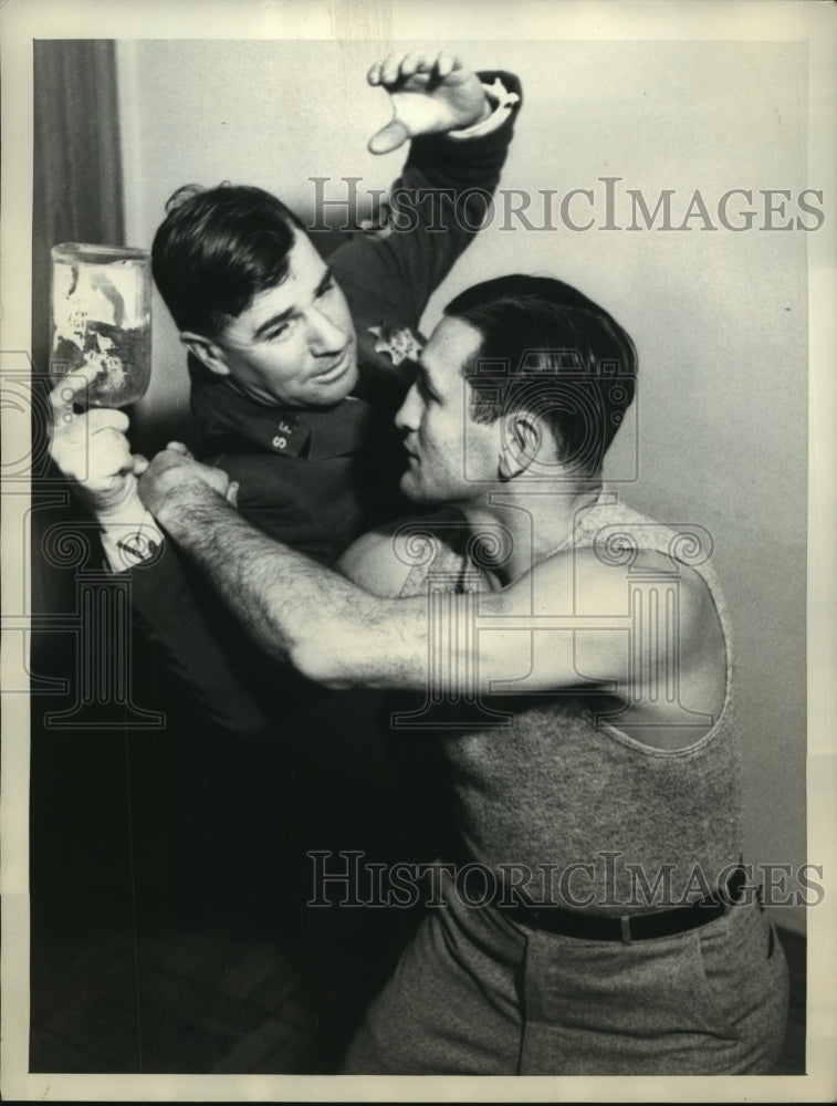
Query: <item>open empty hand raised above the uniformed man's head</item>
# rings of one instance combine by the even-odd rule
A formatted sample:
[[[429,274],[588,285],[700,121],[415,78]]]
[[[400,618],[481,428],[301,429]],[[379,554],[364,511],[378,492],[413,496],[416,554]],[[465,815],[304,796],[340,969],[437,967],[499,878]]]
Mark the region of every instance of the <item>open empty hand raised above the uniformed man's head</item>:
[[[386,88],[394,111],[369,139],[373,154],[387,154],[418,135],[470,127],[490,114],[480,79],[451,54],[391,53],[366,79]]]

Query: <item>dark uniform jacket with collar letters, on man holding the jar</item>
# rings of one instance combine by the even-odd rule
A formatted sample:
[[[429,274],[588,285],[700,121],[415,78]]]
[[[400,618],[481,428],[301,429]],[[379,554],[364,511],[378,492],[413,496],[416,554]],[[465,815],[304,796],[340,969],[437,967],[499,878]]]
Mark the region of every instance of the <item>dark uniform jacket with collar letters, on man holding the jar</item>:
[[[510,94],[503,125],[467,140],[414,139],[390,192],[401,229],[356,234],[328,259],[357,333],[354,395],[325,410],[261,405],[190,358],[201,458],[239,482],[244,518],[321,563],[334,563],[377,523],[416,512],[398,489],[405,455],[394,416],[411,382],[421,314],[474,238],[500,179],[520,85],[499,76],[481,74],[495,94]],[[290,674],[276,680],[275,661],[252,646],[172,543],[132,575],[136,615],[207,717],[239,733],[281,730],[293,689],[304,700],[311,688]]]

